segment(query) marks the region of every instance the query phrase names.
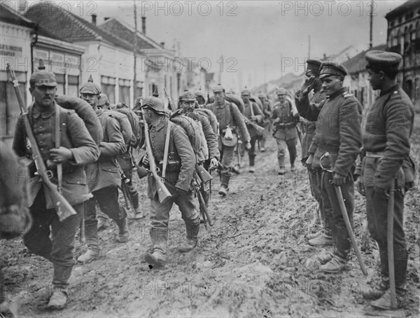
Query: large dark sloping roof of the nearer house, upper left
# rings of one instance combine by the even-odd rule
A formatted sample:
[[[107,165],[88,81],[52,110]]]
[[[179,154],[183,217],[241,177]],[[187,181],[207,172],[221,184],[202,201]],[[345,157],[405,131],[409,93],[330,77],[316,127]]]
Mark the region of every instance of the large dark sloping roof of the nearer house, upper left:
[[[52,3],[48,3],[48,10],[43,8],[42,3],[30,6],[25,13],[25,17],[38,22],[40,27],[58,36],[60,39],[65,39],[67,42],[85,42],[101,39],[113,46],[132,50],[130,43],[118,39],[117,36],[113,36],[113,34]]]

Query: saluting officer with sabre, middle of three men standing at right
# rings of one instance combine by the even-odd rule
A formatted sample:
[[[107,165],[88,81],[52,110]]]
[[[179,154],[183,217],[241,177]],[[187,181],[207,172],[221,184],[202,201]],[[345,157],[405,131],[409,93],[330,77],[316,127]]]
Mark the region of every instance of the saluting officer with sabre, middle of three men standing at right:
[[[321,174],[322,164],[332,170],[321,174],[321,196],[324,209],[331,208],[327,213],[332,215],[332,238],[335,242],[332,252],[317,257],[323,264],[321,270],[324,272],[341,272],[351,249],[349,232],[334,188],[341,187],[346,212],[353,225],[354,184],[351,170],[360,152],[362,106],[356,97],[343,88],[346,74],[346,69],[337,63],[323,63],[319,78],[327,98],[321,104],[309,103],[307,93],[314,83],[314,77],[311,77],[302,85],[301,98],[296,100],[299,113],[308,120],[316,120],[307,168]],[[331,165],[328,160],[320,164],[321,156],[327,152],[331,155]],[[325,204],[326,202],[330,202],[330,205]]]

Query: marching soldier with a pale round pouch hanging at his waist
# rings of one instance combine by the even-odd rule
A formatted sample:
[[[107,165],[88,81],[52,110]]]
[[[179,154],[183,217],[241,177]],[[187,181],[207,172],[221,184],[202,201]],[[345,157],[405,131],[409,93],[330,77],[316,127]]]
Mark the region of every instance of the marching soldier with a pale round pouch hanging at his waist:
[[[218,193],[225,196],[228,194],[229,181],[232,176],[233,151],[237,144],[238,130],[241,139],[245,141],[247,150],[251,148],[251,137],[238,107],[234,103],[225,100],[225,88],[217,85],[213,89],[213,93],[214,103],[208,104],[206,107],[213,111],[219,123],[218,147],[219,151],[221,151],[223,170],[221,172],[221,188],[219,188]],[[231,132],[230,136],[226,132]]]

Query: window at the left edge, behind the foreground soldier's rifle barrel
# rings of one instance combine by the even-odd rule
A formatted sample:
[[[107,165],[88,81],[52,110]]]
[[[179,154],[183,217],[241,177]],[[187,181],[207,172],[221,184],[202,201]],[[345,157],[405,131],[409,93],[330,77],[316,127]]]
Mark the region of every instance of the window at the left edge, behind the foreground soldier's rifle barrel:
[[[19,82],[20,95],[25,103],[27,100],[26,73],[15,71],[15,76]],[[15,134],[16,120],[18,120],[20,108],[15,89],[13,88],[13,84],[10,82],[10,79],[8,80],[6,72],[1,72],[0,74],[0,109],[0,136],[2,139],[3,137],[12,138],[13,134]]]

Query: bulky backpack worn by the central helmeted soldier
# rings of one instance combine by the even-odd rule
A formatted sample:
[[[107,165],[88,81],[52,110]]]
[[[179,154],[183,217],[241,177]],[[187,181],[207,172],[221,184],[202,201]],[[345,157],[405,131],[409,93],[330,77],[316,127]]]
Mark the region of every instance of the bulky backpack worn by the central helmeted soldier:
[[[209,158],[209,148],[207,148],[207,141],[204,138],[204,132],[199,118],[193,116],[181,115],[181,109],[172,113],[169,120],[176,125],[179,125],[186,132],[188,139],[190,139],[191,146],[193,146],[197,161],[207,160]],[[192,114],[197,116],[196,114]],[[207,155],[206,155],[207,153]]]

